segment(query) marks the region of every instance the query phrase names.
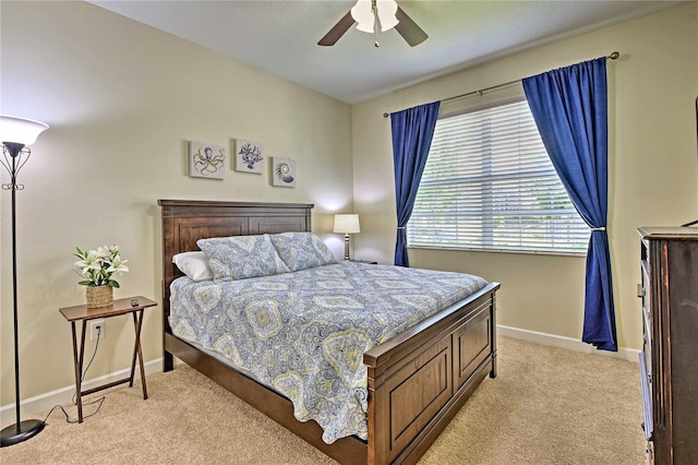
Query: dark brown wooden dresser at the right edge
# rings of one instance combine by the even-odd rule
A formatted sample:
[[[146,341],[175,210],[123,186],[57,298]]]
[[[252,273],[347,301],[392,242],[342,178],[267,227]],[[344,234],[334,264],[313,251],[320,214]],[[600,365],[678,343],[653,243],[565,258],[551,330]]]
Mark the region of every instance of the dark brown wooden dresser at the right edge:
[[[698,228],[642,227],[640,378],[650,464],[698,464]]]

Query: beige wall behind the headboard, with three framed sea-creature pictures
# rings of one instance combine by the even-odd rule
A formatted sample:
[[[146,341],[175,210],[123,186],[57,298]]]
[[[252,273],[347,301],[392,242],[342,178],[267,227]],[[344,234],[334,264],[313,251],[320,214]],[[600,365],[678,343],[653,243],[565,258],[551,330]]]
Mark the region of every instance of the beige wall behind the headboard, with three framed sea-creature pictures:
[[[308,91],[86,2],[2,2],[1,111],[51,129],[32,147],[17,193],[22,397],[74,382],[70,324],[84,302],[71,254],[117,243],[129,260],[115,296],[160,301],[157,199],[311,202],[313,229],[351,211],[351,112]],[[268,175],[188,176],[190,140],[231,147],[242,138],[296,159],[294,189]],[[2,169],[2,182],[8,182]],[[2,397],[14,402],[10,194],[1,204]],[[341,238],[326,236],[337,257]],[[145,315],[145,359],[161,356],[160,308]],[[106,322],[88,378],[130,363],[133,325]],[[86,351],[94,345],[88,342]],[[68,402],[70,394],[68,394]]]

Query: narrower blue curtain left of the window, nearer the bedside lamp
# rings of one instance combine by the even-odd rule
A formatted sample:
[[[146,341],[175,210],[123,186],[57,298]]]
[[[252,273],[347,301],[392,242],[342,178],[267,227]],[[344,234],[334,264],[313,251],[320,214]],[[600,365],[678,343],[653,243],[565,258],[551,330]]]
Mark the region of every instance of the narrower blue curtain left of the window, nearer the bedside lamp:
[[[399,266],[409,266],[405,228],[412,215],[440,107],[441,102],[434,102],[390,114],[397,204],[397,242],[394,263]]]

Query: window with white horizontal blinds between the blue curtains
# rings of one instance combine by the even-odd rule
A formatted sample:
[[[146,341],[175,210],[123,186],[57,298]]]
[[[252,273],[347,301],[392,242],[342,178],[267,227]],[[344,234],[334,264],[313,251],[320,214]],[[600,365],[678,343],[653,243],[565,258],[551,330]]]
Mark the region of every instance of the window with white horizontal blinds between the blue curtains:
[[[583,254],[589,234],[525,99],[436,122],[408,247]]]

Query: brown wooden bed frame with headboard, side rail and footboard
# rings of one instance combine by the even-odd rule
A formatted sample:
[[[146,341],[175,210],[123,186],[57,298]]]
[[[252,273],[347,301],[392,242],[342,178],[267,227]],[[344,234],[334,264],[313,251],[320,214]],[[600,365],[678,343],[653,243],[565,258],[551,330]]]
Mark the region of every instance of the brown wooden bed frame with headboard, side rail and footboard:
[[[171,262],[208,237],[310,231],[312,204],[159,200],[163,214],[165,371],[173,356],[216,381],[342,464],[416,463],[489,373],[496,377],[495,293],[491,283],[467,299],[373,347],[369,369],[369,440],[322,440],[315,421],[293,417],[289,400],[172,335]],[[369,265],[366,265],[369,266]]]

